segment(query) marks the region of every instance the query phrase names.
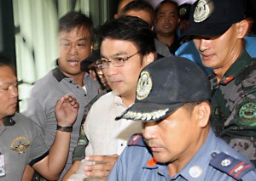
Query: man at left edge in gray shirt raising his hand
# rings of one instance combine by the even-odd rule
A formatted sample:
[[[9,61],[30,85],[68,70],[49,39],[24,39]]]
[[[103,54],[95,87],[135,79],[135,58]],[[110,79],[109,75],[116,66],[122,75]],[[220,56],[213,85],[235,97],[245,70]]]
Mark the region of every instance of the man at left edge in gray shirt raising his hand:
[[[30,119],[16,113],[17,78],[10,60],[0,55],[0,181],[20,181],[26,163],[45,178],[59,178],[66,164],[70,135],[79,110],[76,99],[65,95],[55,105],[57,126],[50,149]]]

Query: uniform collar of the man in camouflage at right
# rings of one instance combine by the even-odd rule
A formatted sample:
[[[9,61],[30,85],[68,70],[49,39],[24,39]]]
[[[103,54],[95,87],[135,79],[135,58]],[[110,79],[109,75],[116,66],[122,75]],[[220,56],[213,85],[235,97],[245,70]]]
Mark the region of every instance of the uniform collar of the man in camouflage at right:
[[[241,71],[246,69],[247,65],[250,65],[252,62],[252,58],[250,57],[249,54],[247,54],[247,51],[243,51],[241,53],[241,56],[236,59],[235,63],[230,66],[229,70],[225,72],[222,80],[219,82],[219,84],[226,85],[230,81],[236,78]],[[209,77],[213,81],[213,87],[217,86],[217,79],[214,73]]]

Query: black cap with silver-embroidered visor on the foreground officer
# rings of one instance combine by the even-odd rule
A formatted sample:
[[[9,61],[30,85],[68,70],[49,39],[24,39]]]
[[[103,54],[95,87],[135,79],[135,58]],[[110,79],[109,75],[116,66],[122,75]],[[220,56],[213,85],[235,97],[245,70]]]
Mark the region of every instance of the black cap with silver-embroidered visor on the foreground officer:
[[[210,82],[200,66],[177,56],[157,59],[143,68],[135,103],[116,120],[155,122],[185,103],[210,98]]]

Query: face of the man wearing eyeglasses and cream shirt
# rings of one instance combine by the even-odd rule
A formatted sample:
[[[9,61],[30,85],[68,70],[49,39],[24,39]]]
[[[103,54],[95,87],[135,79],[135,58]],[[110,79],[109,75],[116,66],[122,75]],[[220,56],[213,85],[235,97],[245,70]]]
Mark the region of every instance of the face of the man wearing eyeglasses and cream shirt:
[[[137,79],[143,69],[141,54],[133,42],[105,38],[101,45],[102,58],[112,61],[114,58],[126,58],[135,54],[125,61],[125,65],[114,67],[111,63],[102,69],[108,85],[113,92],[121,97],[134,97],[137,86]],[[131,97],[131,98],[132,98]]]

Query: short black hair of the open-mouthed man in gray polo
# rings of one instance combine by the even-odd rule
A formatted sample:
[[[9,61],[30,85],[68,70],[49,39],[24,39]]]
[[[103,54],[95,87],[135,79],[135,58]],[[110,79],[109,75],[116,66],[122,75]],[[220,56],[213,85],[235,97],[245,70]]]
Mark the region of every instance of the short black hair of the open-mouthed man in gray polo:
[[[93,39],[94,39],[93,22],[85,14],[82,14],[82,13],[76,12],[76,11],[70,11],[67,14],[64,14],[59,19],[59,32],[72,31],[73,28],[80,29],[82,27],[86,28],[89,31],[91,41],[93,41]]]

